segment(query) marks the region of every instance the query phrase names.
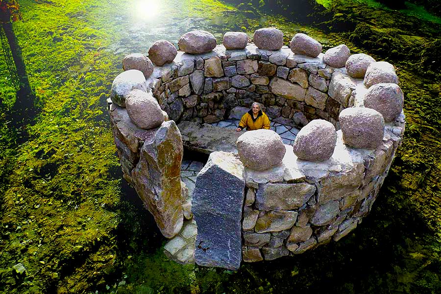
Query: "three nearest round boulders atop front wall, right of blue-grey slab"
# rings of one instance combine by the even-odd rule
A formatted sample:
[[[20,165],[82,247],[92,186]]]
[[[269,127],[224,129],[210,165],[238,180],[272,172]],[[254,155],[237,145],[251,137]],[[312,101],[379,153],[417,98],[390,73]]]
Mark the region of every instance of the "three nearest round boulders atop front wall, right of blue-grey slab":
[[[382,143],[385,122],[376,110],[349,107],[340,113],[340,125],[345,145],[353,148],[375,149]],[[325,161],[331,158],[337,142],[335,126],[325,120],[313,120],[297,134],[294,154],[304,160]],[[272,130],[247,131],[237,140],[241,161],[252,170],[264,171],[280,164],[285,147],[280,136]]]

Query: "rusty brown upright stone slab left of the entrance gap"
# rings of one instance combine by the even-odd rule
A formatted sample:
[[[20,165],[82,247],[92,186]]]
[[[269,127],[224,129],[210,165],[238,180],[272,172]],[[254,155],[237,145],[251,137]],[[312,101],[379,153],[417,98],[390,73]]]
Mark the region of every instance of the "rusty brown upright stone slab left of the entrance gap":
[[[161,233],[172,238],[183,223],[181,161],[184,153],[179,129],[173,121],[147,130],[140,160],[132,172],[138,196],[155,218]]]

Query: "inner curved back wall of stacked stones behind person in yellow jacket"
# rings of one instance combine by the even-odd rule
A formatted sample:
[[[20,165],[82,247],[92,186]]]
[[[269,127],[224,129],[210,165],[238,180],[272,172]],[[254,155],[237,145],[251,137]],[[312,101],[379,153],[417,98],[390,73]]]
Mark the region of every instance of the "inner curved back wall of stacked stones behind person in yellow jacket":
[[[337,125],[348,101],[328,92],[332,74],[344,69],[332,68],[322,58],[322,53],[294,54],[286,46],[264,50],[248,44],[245,49],[226,50],[219,45],[204,54],[178,52],[172,63],[155,66],[147,82],[176,122],[217,122],[234,107],[250,107],[257,101],[281,123],[305,125],[319,118]]]

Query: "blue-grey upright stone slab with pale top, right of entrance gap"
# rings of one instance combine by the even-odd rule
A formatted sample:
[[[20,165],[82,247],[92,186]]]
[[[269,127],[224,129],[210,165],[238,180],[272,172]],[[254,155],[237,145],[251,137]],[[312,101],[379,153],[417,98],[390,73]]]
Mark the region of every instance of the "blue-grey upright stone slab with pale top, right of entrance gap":
[[[239,270],[244,193],[244,166],[239,158],[222,151],[211,153],[193,191],[196,264]]]

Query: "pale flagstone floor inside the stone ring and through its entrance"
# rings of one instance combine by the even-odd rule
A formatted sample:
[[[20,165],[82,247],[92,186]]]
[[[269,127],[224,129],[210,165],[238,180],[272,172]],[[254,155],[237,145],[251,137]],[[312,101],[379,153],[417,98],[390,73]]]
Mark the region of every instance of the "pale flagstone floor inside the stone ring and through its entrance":
[[[211,123],[214,126],[236,129],[239,120],[227,119],[218,123]],[[284,144],[293,145],[295,136],[299,129],[294,126],[283,125],[276,122],[270,123],[270,129],[280,135]],[[203,162],[195,160],[182,160],[181,164],[181,180],[188,188],[188,198],[186,201],[191,202],[193,190],[196,185],[196,175],[202,170]],[[173,261],[181,264],[194,263],[193,253],[195,252],[197,227],[194,220],[184,221],[179,234],[170,239],[164,246],[164,253]]]

